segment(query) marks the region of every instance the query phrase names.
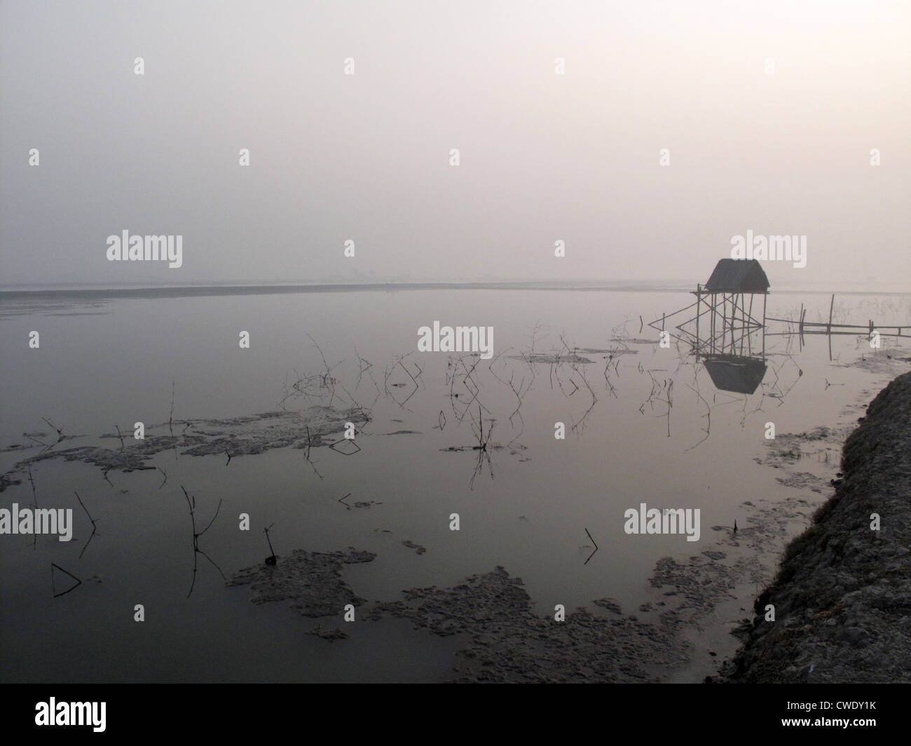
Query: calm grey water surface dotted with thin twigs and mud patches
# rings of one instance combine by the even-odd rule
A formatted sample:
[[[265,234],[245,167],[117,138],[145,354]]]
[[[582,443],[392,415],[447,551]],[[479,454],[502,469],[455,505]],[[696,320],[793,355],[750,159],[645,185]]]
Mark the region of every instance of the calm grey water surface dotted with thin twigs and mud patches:
[[[829,295],[773,294],[768,313],[794,317],[804,304],[807,320],[820,321],[829,302]],[[865,402],[892,378],[885,368],[856,365],[894,353],[887,339],[871,350],[863,337],[835,337],[830,360],[825,337],[807,337],[804,346],[766,337],[755,392],[719,389],[688,347],[660,347],[648,326],[690,303],[691,295],[670,288],[0,294],[2,471],[47,447],[118,449],[117,439],[101,436],[119,427],[129,442],[137,422],[151,437],[166,432],[169,419],[321,406],[370,413],[354,439],[360,451],[345,455],[346,443],[313,448],[311,462],[291,447],[230,460],[171,450],[150,459],[160,471],[112,470],[106,480],[90,463],[44,459],[32,465],[34,495],[20,470],[0,507],[72,508],[75,529],[68,543],[0,537],[0,679],[447,678],[457,636],[396,619],[345,624],[340,610],[325,623],[345,625],[349,637],[328,643],[302,634],[310,620],[285,604],[257,606],[246,588],[226,587],[220,572],[230,577],[271,554],[262,533],[270,525],[280,557],[349,546],[374,552],[374,562],[344,571],[371,601],[457,585],[503,565],[522,578],[539,614],[604,597],[634,611],[654,599],[649,578],[661,557],[683,561],[711,542],[711,526],[743,525],[744,502],[801,490],[825,496],[783,486],[757,462],[769,422],[778,433],[834,427],[856,418],[848,404]],[[868,318],[904,323],[911,300],[837,296],[836,322]],[[493,327],[493,357],[418,352],[418,328],[435,321]],[[32,331],[38,348],[29,347]],[[243,331],[249,348],[239,345]],[[752,345],[761,353],[758,336]],[[558,422],[564,440],[555,438]],[[56,430],[66,440],[56,442]],[[477,451],[485,439],[487,450]],[[827,479],[839,455],[825,446],[800,469]],[[200,558],[189,597],[194,553],[181,485],[195,495],[200,521],[221,502],[200,538],[220,572]],[[92,526],[74,492],[97,522],[88,546]],[[624,513],[640,503],[699,509],[699,541],[626,534]],[[240,530],[241,513],[250,531]],[[452,513],[458,531],[450,530]],[[67,578],[52,563],[82,584],[55,597]],[[736,593],[748,598],[752,590]],[[138,604],[142,623],[134,620]],[[724,616],[703,625],[709,639],[725,638],[732,620]],[[660,673],[680,680],[703,672]]]

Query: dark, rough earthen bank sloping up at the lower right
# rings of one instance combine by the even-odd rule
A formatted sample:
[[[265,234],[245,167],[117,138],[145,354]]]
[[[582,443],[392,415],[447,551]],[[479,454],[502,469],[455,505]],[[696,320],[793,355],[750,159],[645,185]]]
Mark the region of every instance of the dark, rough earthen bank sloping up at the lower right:
[[[878,517],[878,530],[876,521]],[[756,600],[733,683],[911,680],[911,373],[844,443],[841,478]],[[774,621],[766,621],[767,607]]]

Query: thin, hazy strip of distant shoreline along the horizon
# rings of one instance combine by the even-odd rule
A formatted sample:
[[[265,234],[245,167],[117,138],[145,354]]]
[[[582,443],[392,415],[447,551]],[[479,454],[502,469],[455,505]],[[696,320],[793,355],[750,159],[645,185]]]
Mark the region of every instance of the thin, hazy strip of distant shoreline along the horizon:
[[[483,283],[337,283],[320,285],[177,285],[159,287],[42,287],[35,290],[25,288],[0,290],[0,301],[40,298],[174,298],[206,295],[286,295],[299,293],[398,293],[410,290],[550,290],[583,291],[592,293],[688,293],[692,285],[682,282],[668,285],[654,285],[636,281],[614,283],[576,283],[572,281],[518,281]],[[832,290],[802,290],[783,288],[772,290],[773,295],[829,295]],[[911,295],[911,291],[863,291],[835,290],[837,295]]]

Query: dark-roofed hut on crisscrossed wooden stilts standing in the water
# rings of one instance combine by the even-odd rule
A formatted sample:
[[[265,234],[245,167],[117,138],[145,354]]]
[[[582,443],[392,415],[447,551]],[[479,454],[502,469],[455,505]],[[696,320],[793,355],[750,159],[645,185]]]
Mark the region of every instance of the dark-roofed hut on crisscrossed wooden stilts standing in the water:
[[[765,326],[769,278],[755,259],[722,259],[705,286],[697,285],[693,295],[697,355],[742,355],[744,342],[749,347],[752,332]],[[756,295],[763,296],[762,322],[752,316]],[[763,357],[764,352],[763,344]]]

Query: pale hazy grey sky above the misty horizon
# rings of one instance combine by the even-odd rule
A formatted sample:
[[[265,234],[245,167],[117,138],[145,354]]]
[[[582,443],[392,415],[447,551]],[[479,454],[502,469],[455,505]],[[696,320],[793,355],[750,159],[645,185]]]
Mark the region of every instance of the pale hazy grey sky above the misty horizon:
[[[704,280],[752,230],[807,236],[773,288],[911,290],[909,5],[4,1],[0,284]]]

